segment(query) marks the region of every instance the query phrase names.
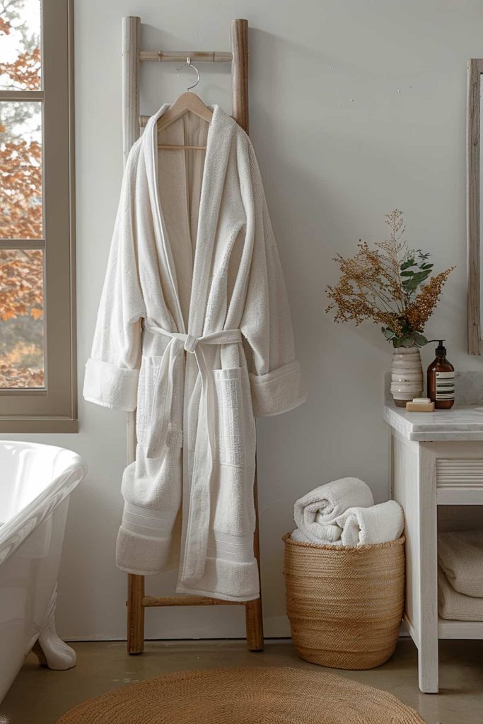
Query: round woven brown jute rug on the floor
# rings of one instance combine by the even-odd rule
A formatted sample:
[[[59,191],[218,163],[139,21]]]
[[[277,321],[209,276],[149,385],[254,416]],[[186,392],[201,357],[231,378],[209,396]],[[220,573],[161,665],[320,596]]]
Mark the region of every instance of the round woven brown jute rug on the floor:
[[[90,699],[57,724],[424,724],[386,691],[320,670],[183,671]]]

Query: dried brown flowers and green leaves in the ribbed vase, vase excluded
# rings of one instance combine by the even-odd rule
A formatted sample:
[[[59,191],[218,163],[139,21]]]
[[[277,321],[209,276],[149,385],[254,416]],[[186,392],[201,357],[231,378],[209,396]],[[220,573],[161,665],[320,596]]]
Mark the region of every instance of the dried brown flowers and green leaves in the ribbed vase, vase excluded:
[[[429,253],[410,249],[403,240],[401,211],[386,214],[386,223],[390,237],[375,249],[360,241],[356,256],[345,259],[338,254],[334,259],[342,275],[335,287],[327,287],[331,303],[325,311],[335,309],[336,322],[361,324],[372,319],[382,324],[382,333],[394,347],[422,347],[429,341],[424,326],[454,266],[424,283],[434,266]]]

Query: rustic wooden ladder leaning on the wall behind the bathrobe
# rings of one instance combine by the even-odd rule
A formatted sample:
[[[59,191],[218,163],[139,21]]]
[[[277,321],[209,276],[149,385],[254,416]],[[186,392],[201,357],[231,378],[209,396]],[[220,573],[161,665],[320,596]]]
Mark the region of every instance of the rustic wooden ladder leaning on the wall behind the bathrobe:
[[[232,20],[231,52],[224,51],[142,51],[140,50],[140,17],[125,17],[122,21],[122,143],[124,159],[138,138],[146,117],[139,114],[139,70],[146,61],[185,63],[193,62],[232,64],[232,116],[248,133],[248,20]],[[135,459],[135,413],[127,418],[127,462]],[[260,571],[259,510],[257,483],[253,488],[256,529],[253,551]],[[141,654],[144,650],[144,613],[146,608],[159,606],[245,606],[246,641],[251,651],[264,647],[261,598],[235,602],[203,596],[146,596],[144,576],[127,574],[127,651]]]

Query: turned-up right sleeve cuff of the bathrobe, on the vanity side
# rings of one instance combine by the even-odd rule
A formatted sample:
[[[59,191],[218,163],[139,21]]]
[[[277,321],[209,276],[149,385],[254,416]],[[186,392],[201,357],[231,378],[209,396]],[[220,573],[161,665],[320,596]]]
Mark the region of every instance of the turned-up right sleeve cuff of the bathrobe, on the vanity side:
[[[268,374],[251,374],[253,415],[280,415],[306,401],[307,392],[299,363],[294,360]]]

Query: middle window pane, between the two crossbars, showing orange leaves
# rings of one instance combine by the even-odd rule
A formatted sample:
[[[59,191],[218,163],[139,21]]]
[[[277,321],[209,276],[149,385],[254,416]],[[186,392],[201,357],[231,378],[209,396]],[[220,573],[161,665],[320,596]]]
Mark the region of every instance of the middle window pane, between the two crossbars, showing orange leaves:
[[[0,102],[0,238],[42,238],[42,104]]]

